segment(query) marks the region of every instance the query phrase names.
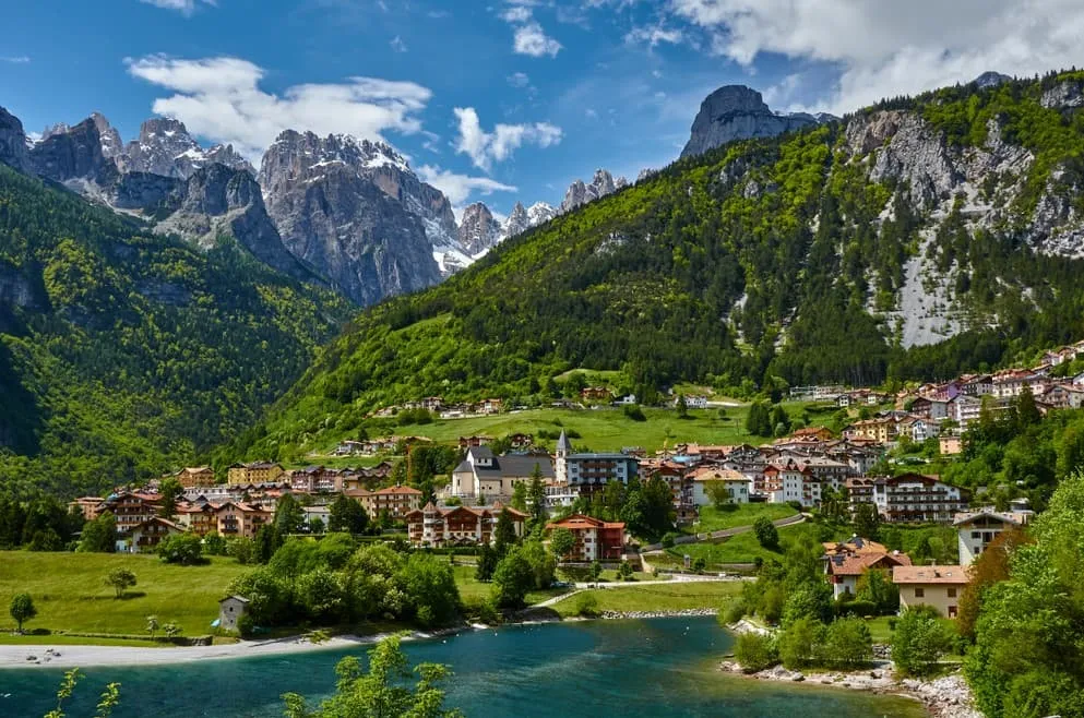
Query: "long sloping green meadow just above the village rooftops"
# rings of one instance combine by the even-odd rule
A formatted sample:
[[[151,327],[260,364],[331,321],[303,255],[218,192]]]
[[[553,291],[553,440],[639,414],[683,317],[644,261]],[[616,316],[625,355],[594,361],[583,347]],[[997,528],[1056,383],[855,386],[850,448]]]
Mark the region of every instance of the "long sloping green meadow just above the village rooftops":
[[[400,435],[428,436],[440,443],[453,443],[460,436],[488,435],[503,436],[523,432],[538,435],[539,430],[560,433],[561,428],[575,430],[580,439],[576,445],[594,451],[619,451],[623,446],[641,446],[654,452],[665,445],[676,443],[738,444],[761,440],[751,436],[744,429],[747,407],[728,407],[725,419],[718,418],[717,409],[692,409],[688,419],[679,419],[672,409],[645,408],[646,421],[633,421],[621,409],[531,409],[515,414],[499,414],[489,417],[468,419],[438,419],[432,423],[397,427]],[[324,446],[330,453],[337,444]],[[553,440],[539,441],[552,445]],[[320,457],[321,463],[325,463]],[[355,462],[357,463],[357,462]]]

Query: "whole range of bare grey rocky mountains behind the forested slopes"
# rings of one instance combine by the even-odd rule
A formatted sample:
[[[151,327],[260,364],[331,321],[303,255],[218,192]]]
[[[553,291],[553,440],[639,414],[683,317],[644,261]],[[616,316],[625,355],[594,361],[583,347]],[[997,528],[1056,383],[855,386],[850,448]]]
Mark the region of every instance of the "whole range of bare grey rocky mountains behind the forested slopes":
[[[456,222],[440,190],[383,142],[288,130],[258,171],[230,145],[201,146],[171,118],[146,120],[127,144],[98,112],[46,128],[37,141],[5,111],[0,121],[7,164],[198,246],[229,235],[275,270],[362,306],[437,284],[505,239],[629,186],[598,169],[589,182],[575,180],[557,207],[517,202],[498,218],[475,203]],[[705,100],[686,153],[817,121],[775,115],[759,93],[727,86]]]

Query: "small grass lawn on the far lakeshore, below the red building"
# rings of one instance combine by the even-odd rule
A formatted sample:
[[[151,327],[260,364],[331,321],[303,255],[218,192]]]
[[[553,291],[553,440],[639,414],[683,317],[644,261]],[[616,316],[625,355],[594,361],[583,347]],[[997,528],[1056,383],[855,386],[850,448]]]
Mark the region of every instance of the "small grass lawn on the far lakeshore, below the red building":
[[[599,588],[584,591],[598,601],[599,611],[680,611],[696,608],[719,608],[730,597],[741,593],[741,582],[675,583],[628,588]],[[553,609],[562,617],[575,615],[576,598],[558,601]]]

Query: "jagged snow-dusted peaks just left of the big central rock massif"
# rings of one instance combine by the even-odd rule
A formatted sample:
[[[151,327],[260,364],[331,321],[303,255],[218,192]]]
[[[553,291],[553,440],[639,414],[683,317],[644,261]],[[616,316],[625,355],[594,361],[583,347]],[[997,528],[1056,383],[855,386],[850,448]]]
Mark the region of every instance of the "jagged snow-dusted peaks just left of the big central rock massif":
[[[124,171],[178,179],[188,179],[195,170],[214,163],[255,175],[252,165],[237,154],[233,145],[214,145],[205,149],[192,139],[183,122],[171,118],[145,121],[140,127],[139,139],[128,143],[123,156],[118,159],[120,169]]]

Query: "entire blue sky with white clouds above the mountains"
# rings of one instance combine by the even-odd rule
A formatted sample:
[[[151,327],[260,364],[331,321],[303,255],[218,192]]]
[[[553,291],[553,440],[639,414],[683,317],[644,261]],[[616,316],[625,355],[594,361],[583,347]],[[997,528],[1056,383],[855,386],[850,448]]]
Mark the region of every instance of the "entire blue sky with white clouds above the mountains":
[[[456,207],[557,204],[675,159],[703,98],[776,110],[1084,65],[1081,0],[35,0],[0,106],[28,132],[153,116],[259,167],[284,129],[381,139]]]

